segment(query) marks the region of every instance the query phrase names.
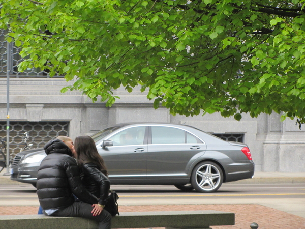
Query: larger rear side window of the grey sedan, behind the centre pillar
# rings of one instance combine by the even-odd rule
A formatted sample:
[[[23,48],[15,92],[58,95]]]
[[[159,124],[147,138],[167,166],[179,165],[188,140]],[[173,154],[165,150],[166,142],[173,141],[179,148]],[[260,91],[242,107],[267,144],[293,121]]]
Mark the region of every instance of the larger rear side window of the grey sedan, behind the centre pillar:
[[[180,144],[185,142],[184,130],[163,126],[151,127],[151,144]]]

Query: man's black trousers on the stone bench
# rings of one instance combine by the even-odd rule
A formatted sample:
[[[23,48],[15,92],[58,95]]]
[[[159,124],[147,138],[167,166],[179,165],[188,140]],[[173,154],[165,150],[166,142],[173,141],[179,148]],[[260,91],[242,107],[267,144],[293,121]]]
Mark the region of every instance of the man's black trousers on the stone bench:
[[[111,218],[109,212],[103,210],[100,215],[92,215],[93,207],[91,204],[87,204],[81,201],[76,201],[72,205],[64,209],[58,209],[51,216],[62,216],[62,217],[82,217],[86,219],[92,219],[99,222],[99,229],[110,229]]]

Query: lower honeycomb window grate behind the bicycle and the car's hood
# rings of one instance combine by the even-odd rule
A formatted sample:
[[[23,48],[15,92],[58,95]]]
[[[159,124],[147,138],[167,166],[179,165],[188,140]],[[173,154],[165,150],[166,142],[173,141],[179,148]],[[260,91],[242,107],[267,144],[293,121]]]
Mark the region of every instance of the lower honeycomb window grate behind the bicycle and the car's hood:
[[[23,133],[28,132],[27,144],[33,148],[43,147],[52,138],[69,136],[69,122],[16,122],[10,121],[10,155],[15,156],[24,147]],[[0,137],[6,138],[6,122],[0,122]],[[11,145],[12,144],[12,145]],[[14,145],[13,145],[14,144]]]

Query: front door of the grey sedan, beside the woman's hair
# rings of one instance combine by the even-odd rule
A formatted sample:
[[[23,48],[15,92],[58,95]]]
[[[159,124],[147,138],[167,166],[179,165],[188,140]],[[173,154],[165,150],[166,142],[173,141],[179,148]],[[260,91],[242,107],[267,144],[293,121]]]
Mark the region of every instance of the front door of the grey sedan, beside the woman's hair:
[[[113,146],[98,147],[112,184],[132,184],[137,180],[146,179],[145,134],[146,126],[125,128],[105,138],[112,140]]]

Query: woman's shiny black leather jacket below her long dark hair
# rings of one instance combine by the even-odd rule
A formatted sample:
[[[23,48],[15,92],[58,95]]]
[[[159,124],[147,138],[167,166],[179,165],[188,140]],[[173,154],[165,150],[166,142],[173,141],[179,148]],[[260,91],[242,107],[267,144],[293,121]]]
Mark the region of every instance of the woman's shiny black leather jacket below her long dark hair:
[[[109,196],[110,181],[98,166],[94,163],[83,164],[80,178],[85,188],[99,198],[101,205],[105,205]]]

